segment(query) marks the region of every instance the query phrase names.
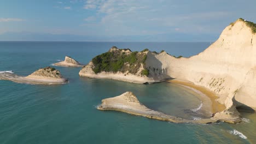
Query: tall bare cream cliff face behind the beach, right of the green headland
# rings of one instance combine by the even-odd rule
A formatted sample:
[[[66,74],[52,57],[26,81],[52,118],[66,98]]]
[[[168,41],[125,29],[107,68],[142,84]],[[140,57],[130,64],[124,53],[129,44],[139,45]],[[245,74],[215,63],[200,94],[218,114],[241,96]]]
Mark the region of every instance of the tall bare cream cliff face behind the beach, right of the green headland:
[[[224,29],[219,39],[199,55],[175,58],[166,52],[148,53],[146,67],[159,75],[193,82],[219,96],[231,109],[234,101],[256,107],[256,35],[243,20]],[[237,103],[238,102],[238,103]]]

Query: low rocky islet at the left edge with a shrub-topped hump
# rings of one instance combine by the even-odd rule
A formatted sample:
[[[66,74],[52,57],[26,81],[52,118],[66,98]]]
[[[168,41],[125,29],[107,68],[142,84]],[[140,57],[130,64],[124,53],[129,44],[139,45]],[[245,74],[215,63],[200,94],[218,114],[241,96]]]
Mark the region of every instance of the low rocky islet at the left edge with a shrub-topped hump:
[[[62,84],[67,82],[67,79],[62,77],[59,70],[51,67],[41,68],[28,76],[0,73],[0,80],[10,80],[18,83],[30,83],[35,85]]]

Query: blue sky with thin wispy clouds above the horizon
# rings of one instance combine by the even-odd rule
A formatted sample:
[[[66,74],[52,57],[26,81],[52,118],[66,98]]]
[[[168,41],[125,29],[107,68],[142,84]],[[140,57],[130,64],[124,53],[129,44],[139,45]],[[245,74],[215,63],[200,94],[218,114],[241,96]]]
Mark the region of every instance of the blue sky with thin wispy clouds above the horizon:
[[[214,41],[255,0],[0,0],[0,41]]]

